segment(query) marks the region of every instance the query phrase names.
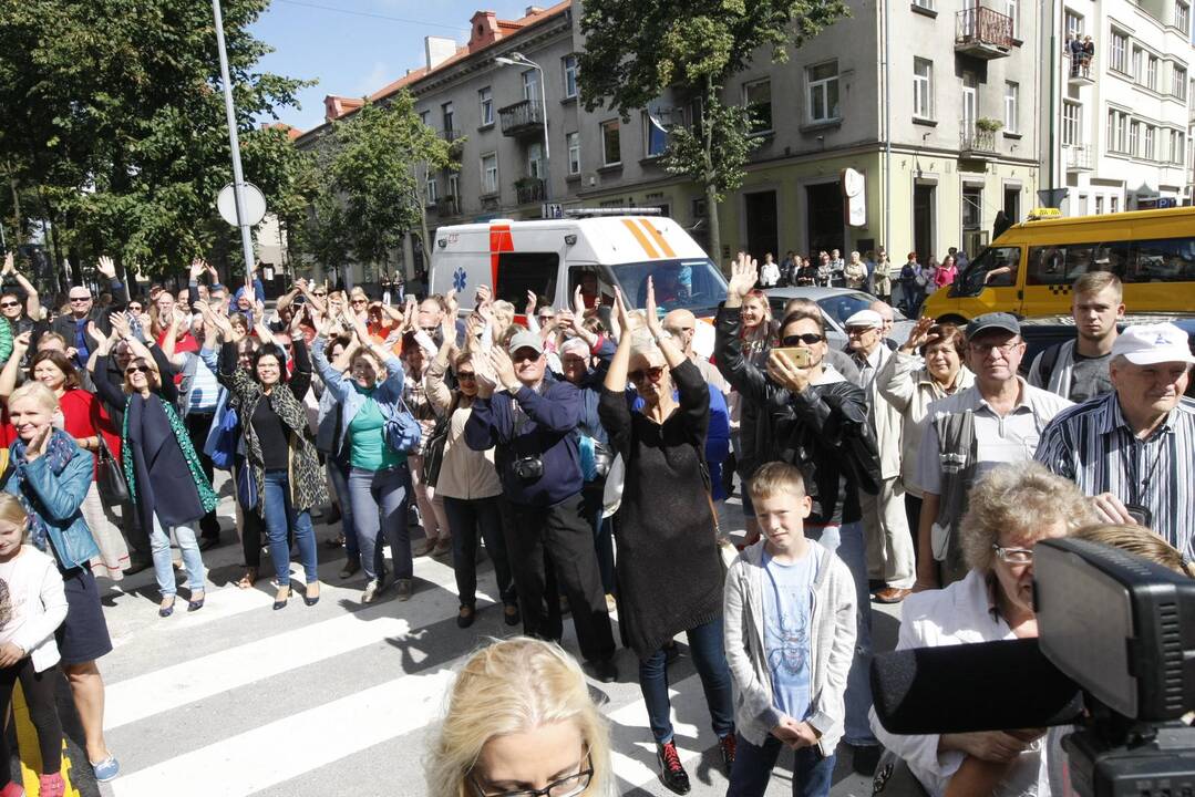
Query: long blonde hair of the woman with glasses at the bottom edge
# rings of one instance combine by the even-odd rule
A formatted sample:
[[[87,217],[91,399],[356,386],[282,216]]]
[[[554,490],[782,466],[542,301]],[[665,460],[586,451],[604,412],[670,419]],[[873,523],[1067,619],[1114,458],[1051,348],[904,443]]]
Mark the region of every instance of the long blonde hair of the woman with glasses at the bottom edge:
[[[473,654],[448,695],[448,711],[428,746],[428,793],[472,797],[468,774],[486,742],[571,722],[589,748],[594,774],[584,797],[608,792],[609,730],[589,697],[581,666],[559,645],[514,637]]]

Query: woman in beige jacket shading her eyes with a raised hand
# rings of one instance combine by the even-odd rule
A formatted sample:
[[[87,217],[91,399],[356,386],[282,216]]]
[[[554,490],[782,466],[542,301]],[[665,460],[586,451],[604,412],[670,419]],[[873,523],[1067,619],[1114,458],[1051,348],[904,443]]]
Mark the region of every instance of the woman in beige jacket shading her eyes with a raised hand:
[[[967,338],[954,324],[918,319],[896,356],[876,375],[876,388],[901,413],[901,480],[908,527],[921,517],[921,488],[917,484],[917,455],[925,436],[927,407],[932,401],[967,390],[975,375],[963,367]],[[918,356],[920,355],[920,356]],[[923,364],[924,362],[924,364]]]

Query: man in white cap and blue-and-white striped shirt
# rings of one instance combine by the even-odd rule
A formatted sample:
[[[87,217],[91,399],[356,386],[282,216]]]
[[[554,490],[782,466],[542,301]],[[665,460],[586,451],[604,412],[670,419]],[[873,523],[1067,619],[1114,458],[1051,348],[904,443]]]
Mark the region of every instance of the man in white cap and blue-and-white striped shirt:
[[[1059,413],[1037,460],[1092,496],[1110,523],[1146,526],[1195,557],[1195,401],[1187,335],[1173,324],[1134,324],[1113,345],[1114,392]]]

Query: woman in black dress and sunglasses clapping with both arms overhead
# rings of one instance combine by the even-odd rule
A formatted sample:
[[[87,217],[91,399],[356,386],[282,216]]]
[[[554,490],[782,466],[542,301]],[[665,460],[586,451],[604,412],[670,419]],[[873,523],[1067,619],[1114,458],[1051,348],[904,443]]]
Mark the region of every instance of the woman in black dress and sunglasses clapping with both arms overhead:
[[[681,631],[688,636],[728,771],[735,752],[730,669],[722,644],[722,560],[704,462],[710,391],[697,364],[663,331],[650,277],[650,338],[631,332],[618,289],[615,306],[624,332],[598,413],[626,466],[614,519],[619,619],[639,657],[639,688],[661,778],[673,791],[686,793],[688,774],[673,741],[664,654],[664,644]],[[643,399],[637,412],[627,405],[627,380]]]

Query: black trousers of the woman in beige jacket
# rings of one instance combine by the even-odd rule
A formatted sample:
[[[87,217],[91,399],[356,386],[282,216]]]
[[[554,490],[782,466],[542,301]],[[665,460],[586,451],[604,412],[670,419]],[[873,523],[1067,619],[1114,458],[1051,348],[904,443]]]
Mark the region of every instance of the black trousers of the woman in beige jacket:
[[[472,607],[477,603],[478,537],[485,540],[485,550],[494,562],[494,574],[498,578],[498,599],[503,603],[516,603],[497,496],[472,499],[446,496],[445,513],[448,515],[448,528],[452,531],[452,566],[456,575],[456,596],[461,606]]]

